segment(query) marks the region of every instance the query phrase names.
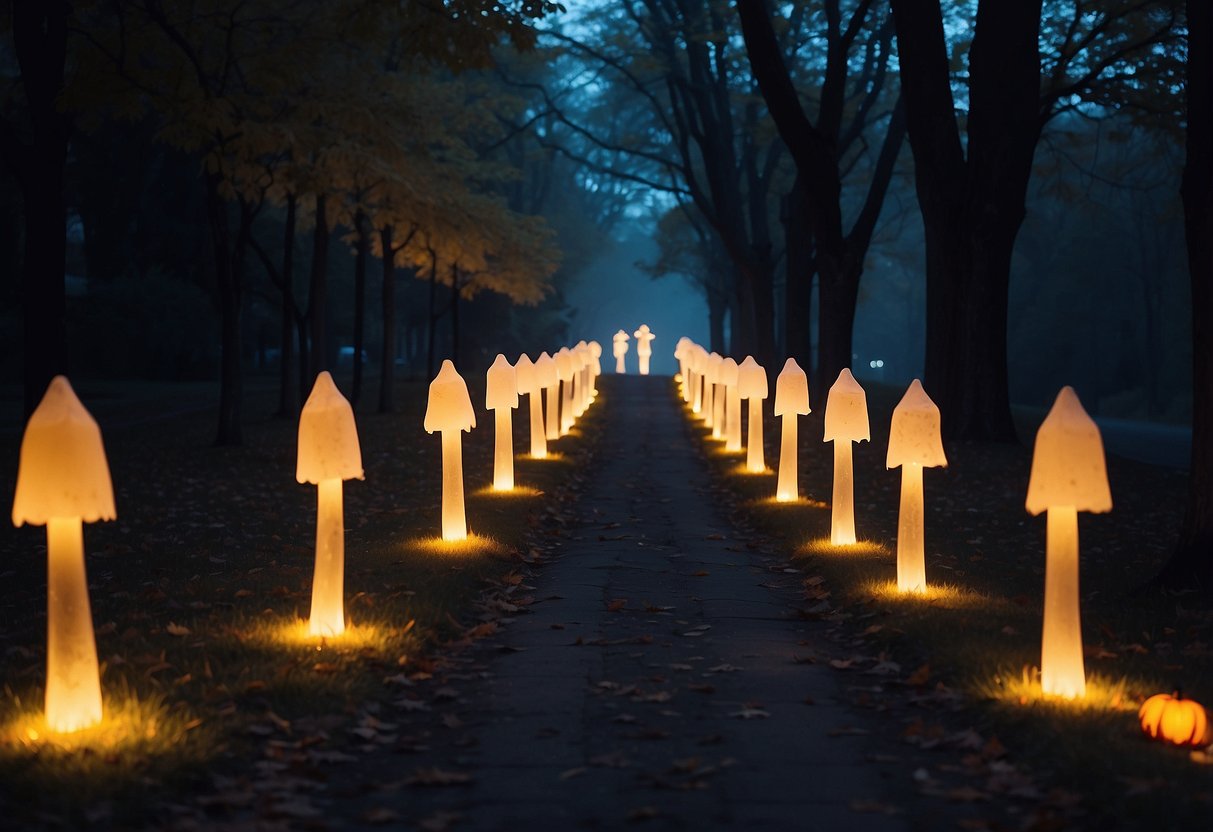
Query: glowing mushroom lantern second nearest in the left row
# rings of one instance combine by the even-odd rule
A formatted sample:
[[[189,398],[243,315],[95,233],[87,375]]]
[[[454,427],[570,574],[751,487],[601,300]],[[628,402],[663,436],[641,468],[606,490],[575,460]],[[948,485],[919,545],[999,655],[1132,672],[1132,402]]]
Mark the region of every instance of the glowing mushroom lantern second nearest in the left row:
[[[295,479],[317,485],[315,570],[312,577],[313,636],[346,628],[346,531],[342,481],[363,478],[354,411],[328,371],[315,377],[300,414]]]

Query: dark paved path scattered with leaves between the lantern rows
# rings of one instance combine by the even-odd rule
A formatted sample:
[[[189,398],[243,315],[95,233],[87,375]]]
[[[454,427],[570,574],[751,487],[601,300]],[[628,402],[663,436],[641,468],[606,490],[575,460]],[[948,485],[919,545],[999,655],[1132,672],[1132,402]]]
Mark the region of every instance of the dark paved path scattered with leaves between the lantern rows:
[[[838,674],[797,661],[819,626],[713,509],[668,384],[611,384],[566,551],[463,702],[474,779],[421,802],[456,830],[902,828]]]

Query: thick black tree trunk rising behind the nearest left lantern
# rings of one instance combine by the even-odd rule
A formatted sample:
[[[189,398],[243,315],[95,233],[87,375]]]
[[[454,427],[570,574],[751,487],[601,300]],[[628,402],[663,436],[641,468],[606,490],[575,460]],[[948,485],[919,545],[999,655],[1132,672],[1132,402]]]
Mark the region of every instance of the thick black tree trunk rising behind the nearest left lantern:
[[[63,0],[12,4],[12,39],[33,132],[32,143],[25,146],[4,131],[5,155],[21,186],[25,212],[22,313],[27,416],[51,378],[68,371],[63,189],[72,126],[56,102],[63,90],[69,11]]]

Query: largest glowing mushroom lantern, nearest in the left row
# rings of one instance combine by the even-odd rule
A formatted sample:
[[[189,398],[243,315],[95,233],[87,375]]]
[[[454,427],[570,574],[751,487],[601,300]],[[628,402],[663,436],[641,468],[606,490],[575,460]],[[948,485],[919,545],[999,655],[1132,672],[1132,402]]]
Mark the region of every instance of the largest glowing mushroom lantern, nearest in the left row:
[[[21,440],[13,525],[46,526],[46,724],[70,733],[102,719],[82,523],[113,520],[101,428],[63,376],[51,380]]]

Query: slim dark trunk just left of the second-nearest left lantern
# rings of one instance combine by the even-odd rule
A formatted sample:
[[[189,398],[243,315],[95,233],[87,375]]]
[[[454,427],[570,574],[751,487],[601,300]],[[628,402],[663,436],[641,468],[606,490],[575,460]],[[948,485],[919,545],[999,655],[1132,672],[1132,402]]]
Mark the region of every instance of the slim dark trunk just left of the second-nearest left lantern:
[[[244,378],[240,367],[240,285],[233,268],[227,203],[218,173],[206,175],[206,218],[211,228],[215,281],[220,296],[220,424],[216,445],[239,445]]]

